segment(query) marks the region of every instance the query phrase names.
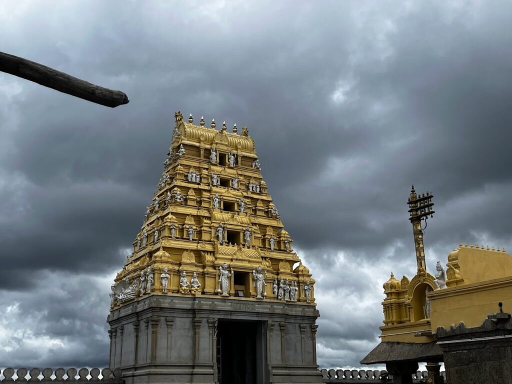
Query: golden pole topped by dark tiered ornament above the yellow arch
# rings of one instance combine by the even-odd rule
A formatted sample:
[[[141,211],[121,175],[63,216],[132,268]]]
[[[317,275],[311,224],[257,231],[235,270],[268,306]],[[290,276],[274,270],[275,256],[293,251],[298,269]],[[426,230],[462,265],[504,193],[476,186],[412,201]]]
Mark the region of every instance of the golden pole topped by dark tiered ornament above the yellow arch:
[[[416,261],[418,263],[418,272],[423,270],[426,272],[425,253],[423,249],[423,230],[426,228],[426,220],[433,217],[435,211],[432,209],[434,203],[432,198],[434,195],[429,191],[426,194],[416,194],[414,185],[411,188],[411,194],[407,200],[409,204],[409,221],[413,225],[414,246],[416,249]],[[425,221],[424,228],[421,228],[421,221]]]

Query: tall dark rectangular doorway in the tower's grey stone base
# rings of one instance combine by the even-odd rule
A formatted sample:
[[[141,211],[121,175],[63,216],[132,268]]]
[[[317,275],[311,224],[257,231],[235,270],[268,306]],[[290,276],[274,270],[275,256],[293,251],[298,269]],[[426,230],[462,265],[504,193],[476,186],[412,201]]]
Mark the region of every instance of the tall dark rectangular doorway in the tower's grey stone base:
[[[266,384],[266,324],[256,321],[217,323],[219,384]]]

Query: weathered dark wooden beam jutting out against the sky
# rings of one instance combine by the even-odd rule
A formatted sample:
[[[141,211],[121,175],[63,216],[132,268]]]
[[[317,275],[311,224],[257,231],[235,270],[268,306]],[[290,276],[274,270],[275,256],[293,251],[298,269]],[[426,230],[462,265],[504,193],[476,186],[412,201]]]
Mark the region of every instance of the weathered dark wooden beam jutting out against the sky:
[[[0,52],[0,71],[112,108],[130,101],[121,91],[99,87],[37,62],[4,52]]]

